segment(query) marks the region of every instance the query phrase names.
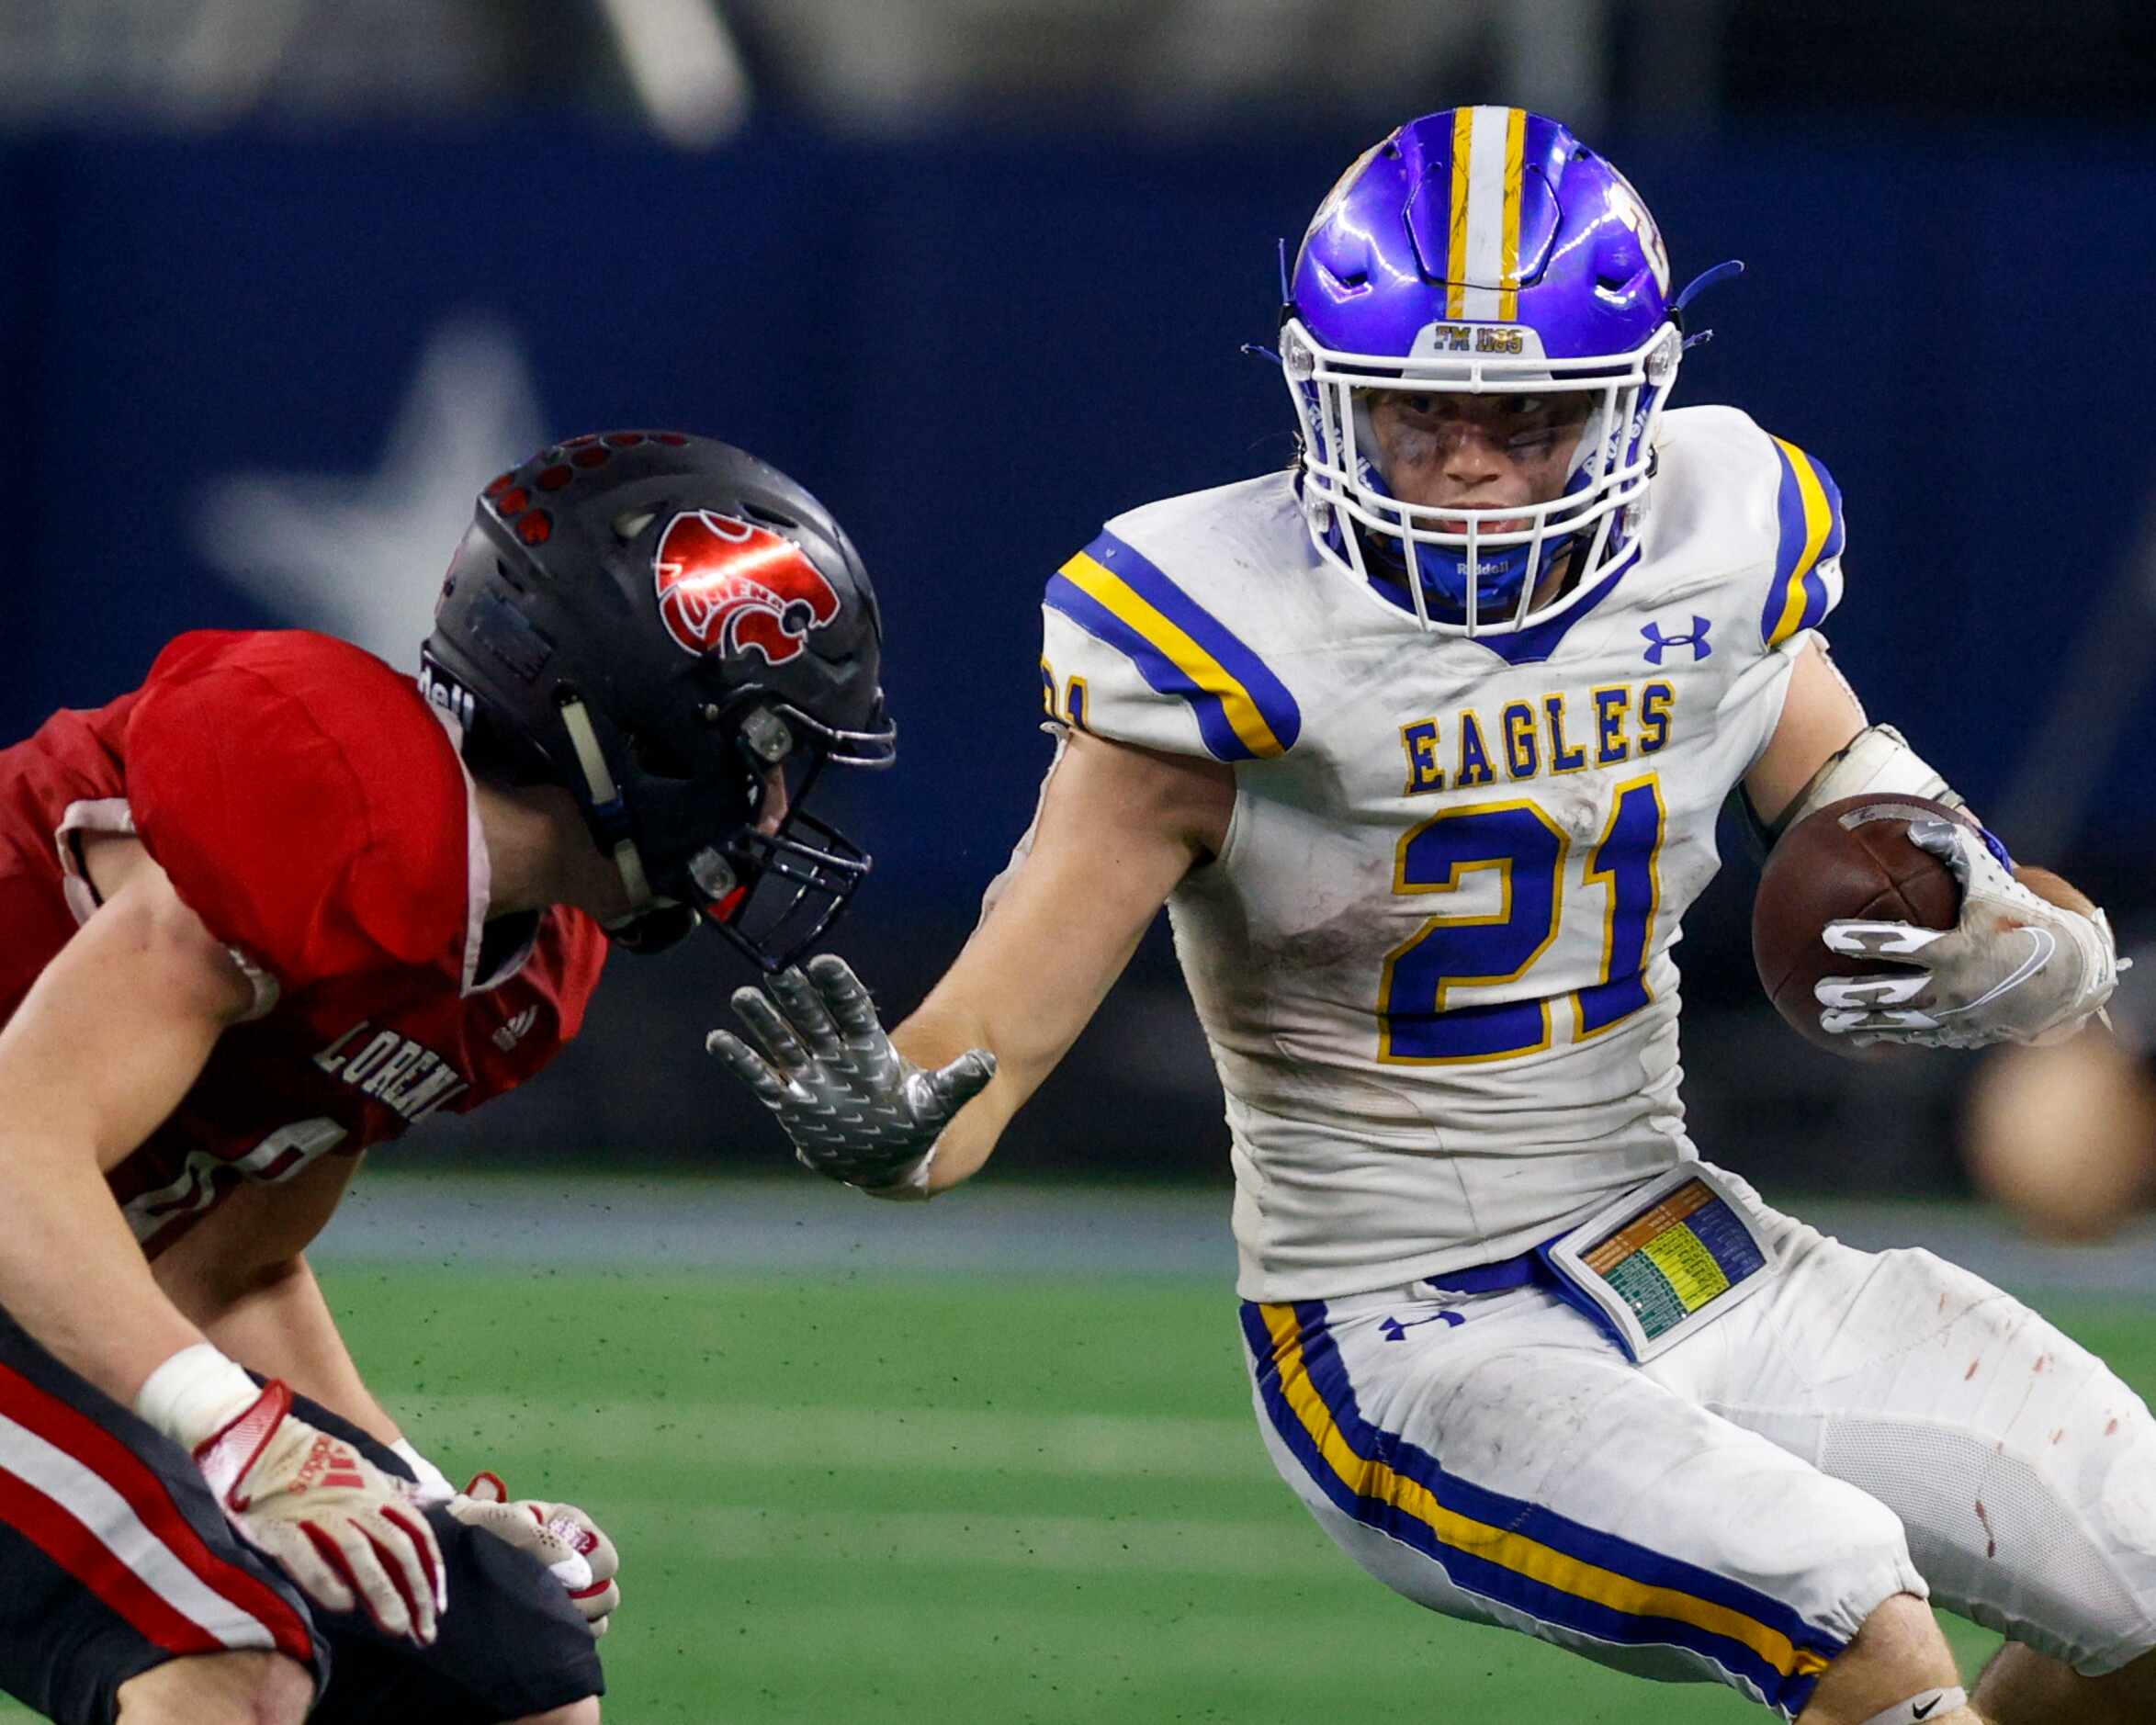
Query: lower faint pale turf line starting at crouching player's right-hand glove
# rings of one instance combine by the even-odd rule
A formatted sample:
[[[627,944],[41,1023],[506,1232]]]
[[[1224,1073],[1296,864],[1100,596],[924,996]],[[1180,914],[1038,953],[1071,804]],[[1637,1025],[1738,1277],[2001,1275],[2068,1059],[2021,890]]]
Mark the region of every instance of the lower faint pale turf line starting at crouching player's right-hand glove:
[[[834,1563],[849,1570],[1037,1570],[1281,1576],[1326,1550],[1313,1522],[1169,1516],[1009,1516],[972,1509],[808,1509],[800,1503],[694,1503],[610,1496],[623,1527],[653,1540],[692,1540],[714,1563]]]

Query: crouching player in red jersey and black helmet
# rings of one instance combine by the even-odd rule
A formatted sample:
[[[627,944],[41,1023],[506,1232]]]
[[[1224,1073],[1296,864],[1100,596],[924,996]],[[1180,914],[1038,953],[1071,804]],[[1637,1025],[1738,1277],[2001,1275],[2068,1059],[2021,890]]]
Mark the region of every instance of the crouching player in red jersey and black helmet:
[[[453,1492],[304,1248],[360,1154],[530,1078],[608,940],[778,968],[867,856],[882,625],[830,513],[679,433],[479,500],[418,688],[190,634],[0,753],[0,1688],[75,1725],[589,1725],[614,1552]]]

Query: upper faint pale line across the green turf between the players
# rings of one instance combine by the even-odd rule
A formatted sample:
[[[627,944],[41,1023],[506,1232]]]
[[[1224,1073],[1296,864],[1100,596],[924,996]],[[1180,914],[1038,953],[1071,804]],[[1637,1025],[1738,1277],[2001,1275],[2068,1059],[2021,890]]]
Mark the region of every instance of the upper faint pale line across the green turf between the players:
[[[543,1445],[617,1462],[722,1462],[729,1471],[804,1466],[918,1473],[1266,1481],[1255,1421],[1177,1414],[1044,1414],[977,1408],[770,1408],[619,1399],[548,1404],[528,1395],[390,1395],[427,1453],[479,1455]]]

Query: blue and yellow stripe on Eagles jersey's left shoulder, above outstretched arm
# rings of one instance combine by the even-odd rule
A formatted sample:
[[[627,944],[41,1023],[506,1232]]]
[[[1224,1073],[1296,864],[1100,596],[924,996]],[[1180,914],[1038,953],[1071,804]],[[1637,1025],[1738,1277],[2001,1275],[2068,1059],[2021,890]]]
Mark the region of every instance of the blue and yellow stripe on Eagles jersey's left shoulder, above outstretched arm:
[[[1153,690],[1190,703],[1216,759],[1268,761],[1296,746],[1302,709],[1287,686],[1227,623],[1112,533],[1050,576],[1044,602],[1125,653]]]

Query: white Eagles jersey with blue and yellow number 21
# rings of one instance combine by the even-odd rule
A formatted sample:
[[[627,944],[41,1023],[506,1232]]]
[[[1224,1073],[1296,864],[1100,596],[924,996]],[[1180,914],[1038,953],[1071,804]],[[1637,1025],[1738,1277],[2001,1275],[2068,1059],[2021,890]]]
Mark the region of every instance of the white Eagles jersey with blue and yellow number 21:
[[[1641,539],[1548,621],[1432,634],[1317,556],[1276,472],[1050,580],[1052,716],[1235,770],[1169,910],[1244,1298],[1509,1257],[1695,1156],[1671,949],[1841,595],[1839,496],[1742,412],[1677,410]]]

